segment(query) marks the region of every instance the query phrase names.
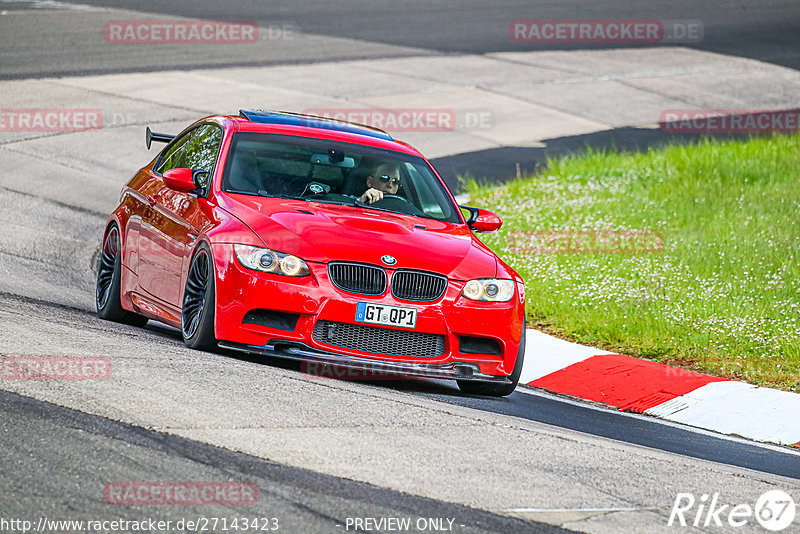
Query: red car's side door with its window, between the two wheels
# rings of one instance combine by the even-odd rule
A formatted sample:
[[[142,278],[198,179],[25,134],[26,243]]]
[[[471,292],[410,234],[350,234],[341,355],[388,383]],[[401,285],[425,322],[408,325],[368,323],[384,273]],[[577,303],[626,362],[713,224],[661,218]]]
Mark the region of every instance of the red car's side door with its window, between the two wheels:
[[[181,307],[184,259],[194,246],[204,216],[197,195],[170,189],[161,175],[176,168],[204,170],[208,174],[201,176],[206,181],[201,185],[207,185],[221,142],[222,128],[217,124],[202,124],[187,132],[176,142],[176,150],[153,172],[143,191],[152,204],[143,217],[139,238],[139,284],[143,291],[175,311]]]

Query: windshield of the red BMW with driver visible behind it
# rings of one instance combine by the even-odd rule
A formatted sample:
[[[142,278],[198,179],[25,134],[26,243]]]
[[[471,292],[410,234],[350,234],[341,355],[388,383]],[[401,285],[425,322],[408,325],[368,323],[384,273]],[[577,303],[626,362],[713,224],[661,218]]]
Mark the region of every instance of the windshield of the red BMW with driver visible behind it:
[[[370,203],[368,189],[382,191]],[[458,208],[418,156],[362,145],[238,133],[222,178],[228,193],[298,198],[458,223]]]

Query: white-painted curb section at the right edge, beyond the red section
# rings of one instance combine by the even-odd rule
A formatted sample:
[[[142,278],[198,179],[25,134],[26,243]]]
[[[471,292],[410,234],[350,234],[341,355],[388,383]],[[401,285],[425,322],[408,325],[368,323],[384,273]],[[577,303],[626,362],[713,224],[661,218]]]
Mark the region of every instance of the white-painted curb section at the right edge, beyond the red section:
[[[712,382],[645,413],[759,441],[800,443],[800,395],[744,382]]]

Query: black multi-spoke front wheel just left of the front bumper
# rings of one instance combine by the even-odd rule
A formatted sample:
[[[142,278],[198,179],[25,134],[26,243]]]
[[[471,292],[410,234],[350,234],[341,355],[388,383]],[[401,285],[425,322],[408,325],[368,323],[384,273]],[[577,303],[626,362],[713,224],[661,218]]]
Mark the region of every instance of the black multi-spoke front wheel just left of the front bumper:
[[[181,333],[183,342],[191,349],[210,350],[217,345],[214,337],[214,278],[211,249],[203,243],[192,258],[183,290]]]

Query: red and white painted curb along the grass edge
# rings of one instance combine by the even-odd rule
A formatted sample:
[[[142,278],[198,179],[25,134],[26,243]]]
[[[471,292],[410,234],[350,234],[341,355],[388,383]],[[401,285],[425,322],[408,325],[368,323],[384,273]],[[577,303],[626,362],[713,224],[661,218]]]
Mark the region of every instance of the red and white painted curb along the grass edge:
[[[756,441],[800,447],[800,395],[529,329],[520,384]]]

